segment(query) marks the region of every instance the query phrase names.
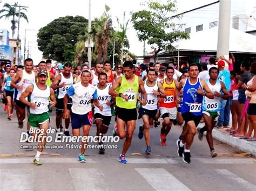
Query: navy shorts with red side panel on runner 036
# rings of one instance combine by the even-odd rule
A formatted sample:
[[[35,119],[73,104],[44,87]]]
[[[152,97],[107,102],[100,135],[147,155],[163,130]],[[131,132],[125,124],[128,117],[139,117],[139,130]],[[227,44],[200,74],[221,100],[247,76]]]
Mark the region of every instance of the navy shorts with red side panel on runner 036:
[[[71,113],[71,126],[72,129],[80,129],[83,125],[92,124],[92,112],[87,112],[87,114],[79,115]]]

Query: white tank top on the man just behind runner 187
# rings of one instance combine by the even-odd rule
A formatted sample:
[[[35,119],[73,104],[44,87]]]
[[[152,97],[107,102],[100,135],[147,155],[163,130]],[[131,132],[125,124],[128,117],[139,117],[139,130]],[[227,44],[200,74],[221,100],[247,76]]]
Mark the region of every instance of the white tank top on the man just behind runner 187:
[[[19,96],[21,96],[21,94],[23,93],[23,91],[25,91],[25,89],[30,85],[36,82],[36,77],[35,77],[35,73],[33,71],[31,71],[31,74],[26,73],[25,69],[22,70],[22,79],[21,81],[18,82],[18,86],[22,86],[23,85],[23,89],[22,90],[18,90],[18,94],[17,94],[17,100],[19,100]]]

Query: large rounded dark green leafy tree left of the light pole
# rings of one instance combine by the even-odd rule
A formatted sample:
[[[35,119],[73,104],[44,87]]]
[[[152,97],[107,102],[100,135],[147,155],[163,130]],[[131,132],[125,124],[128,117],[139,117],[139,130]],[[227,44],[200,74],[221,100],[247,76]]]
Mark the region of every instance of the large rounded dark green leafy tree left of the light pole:
[[[75,60],[75,45],[88,20],[81,16],[59,17],[39,29],[37,34],[38,49],[44,58],[57,61]]]

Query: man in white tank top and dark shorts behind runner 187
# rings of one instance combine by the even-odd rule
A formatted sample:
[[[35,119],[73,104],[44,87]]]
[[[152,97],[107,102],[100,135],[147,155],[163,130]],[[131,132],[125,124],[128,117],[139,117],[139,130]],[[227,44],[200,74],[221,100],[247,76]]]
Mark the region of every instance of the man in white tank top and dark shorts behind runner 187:
[[[27,58],[24,60],[24,67],[21,72],[17,72],[14,79],[11,82],[11,88],[17,89],[17,97],[16,97],[16,114],[18,118],[18,128],[23,128],[23,121],[26,116],[25,107],[26,105],[19,101],[19,96],[25,91],[26,87],[30,84],[36,82],[35,72],[32,71],[33,68],[33,60],[31,58]],[[16,84],[18,81],[18,84]],[[27,131],[29,131],[30,126],[27,124]]]

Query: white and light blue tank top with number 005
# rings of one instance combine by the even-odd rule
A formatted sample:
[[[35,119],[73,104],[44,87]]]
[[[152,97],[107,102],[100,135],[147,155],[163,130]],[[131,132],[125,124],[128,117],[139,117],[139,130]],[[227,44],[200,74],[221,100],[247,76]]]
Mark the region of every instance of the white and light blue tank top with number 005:
[[[221,91],[221,84],[220,84],[220,80],[217,80],[217,82],[212,85],[210,83],[210,79],[206,80],[206,83],[208,85],[208,87],[211,89],[212,93],[214,94],[215,91],[218,91],[218,93],[220,93]],[[203,111],[220,111],[221,109],[221,104],[220,104],[220,97],[214,96],[213,99],[209,99],[208,97],[204,96],[203,99]]]

